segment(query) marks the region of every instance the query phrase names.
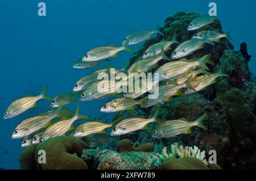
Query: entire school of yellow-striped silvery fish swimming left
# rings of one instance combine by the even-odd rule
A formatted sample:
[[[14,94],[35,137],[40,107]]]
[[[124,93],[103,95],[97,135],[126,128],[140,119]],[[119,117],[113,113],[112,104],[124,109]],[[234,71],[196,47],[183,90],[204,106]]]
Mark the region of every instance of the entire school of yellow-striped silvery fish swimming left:
[[[192,20],[187,31],[198,30],[216,20],[218,20],[216,16],[201,15]],[[97,66],[100,61],[110,61],[109,58],[118,57],[118,53],[123,50],[132,52],[130,45],[142,43],[154,34],[163,36],[163,33],[159,30],[159,24],[154,30],[145,29],[131,32],[130,35],[123,39],[120,47],[109,45],[89,50],[73,63],[73,68],[88,69],[92,66]],[[121,69],[115,69],[109,65],[106,69],[94,71],[80,78],[73,86],[72,92],[51,98],[47,95],[48,86],[46,86],[38,96],[27,95],[24,98],[15,100],[3,113],[3,119],[11,119],[32,107],[36,107],[36,102],[40,99],[51,100],[46,112],[21,121],[11,134],[13,139],[23,138],[22,147],[43,142],[52,137],[68,135],[77,138],[91,137],[90,148],[97,148],[108,144],[109,139],[114,136],[146,129],[147,125],[152,123],[159,124],[159,127],[152,132],[152,137],[154,138],[169,138],[179,134],[189,134],[192,132],[192,127],[207,130],[207,127],[203,124],[203,121],[207,119],[207,114],[192,121],[184,118],[161,120],[159,118],[160,110],[156,110],[151,118],[146,119],[143,116],[138,116],[106,123],[106,121],[100,119],[90,120],[89,116],[80,115],[80,105],[77,106],[75,112],[65,106],[77,102],[77,99],[83,102],[118,96],[118,98],[109,100],[102,105],[99,111],[109,113],[141,110],[141,108],[169,102],[175,96],[185,96],[204,90],[206,87],[216,83],[218,77],[226,77],[228,75],[224,74],[221,68],[217,73],[209,72],[208,65],[214,66],[214,63],[210,60],[210,54],[193,57],[190,60],[186,56],[192,55],[197,50],[204,49],[205,46],[214,46],[215,43],[220,42],[220,39],[223,38],[231,40],[230,31],[227,33],[221,33],[219,30],[196,32],[191,37],[191,40],[183,43],[179,43],[176,34],[174,34],[171,40],[162,40],[148,47],[142,56],[129,68],[125,66]],[[171,50],[171,45],[172,47],[175,45],[176,48],[172,50],[171,56],[167,57],[165,52]],[[159,66],[159,62],[163,60],[166,63]],[[152,72],[153,69],[155,69],[154,72]],[[120,73],[123,75],[120,81],[104,78],[106,75],[118,75]],[[152,78],[152,81],[141,82],[138,79],[133,79],[131,75],[135,73],[151,73],[152,76],[147,78]],[[159,86],[161,82],[164,83]],[[130,83],[137,86],[130,89]],[[127,91],[128,88],[129,91]],[[154,95],[157,96],[154,97]],[[74,123],[77,120],[85,121],[74,127]],[[108,132],[108,128],[111,128],[110,132]]]

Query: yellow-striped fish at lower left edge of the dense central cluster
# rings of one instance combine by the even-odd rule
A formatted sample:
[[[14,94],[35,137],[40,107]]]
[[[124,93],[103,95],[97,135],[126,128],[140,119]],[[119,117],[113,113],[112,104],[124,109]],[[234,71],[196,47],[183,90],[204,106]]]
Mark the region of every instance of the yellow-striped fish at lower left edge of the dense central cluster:
[[[101,112],[118,112],[124,110],[134,110],[136,105],[146,107],[144,98],[141,100],[134,100],[131,98],[112,99],[101,107]]]

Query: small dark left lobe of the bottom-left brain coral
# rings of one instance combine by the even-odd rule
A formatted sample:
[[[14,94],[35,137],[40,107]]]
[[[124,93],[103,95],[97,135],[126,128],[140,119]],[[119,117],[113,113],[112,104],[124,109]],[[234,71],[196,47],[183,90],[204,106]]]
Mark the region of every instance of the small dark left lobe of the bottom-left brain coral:
[[[35,150],[38,144],[27,146],[19,157],[20,170],[36,170]]]

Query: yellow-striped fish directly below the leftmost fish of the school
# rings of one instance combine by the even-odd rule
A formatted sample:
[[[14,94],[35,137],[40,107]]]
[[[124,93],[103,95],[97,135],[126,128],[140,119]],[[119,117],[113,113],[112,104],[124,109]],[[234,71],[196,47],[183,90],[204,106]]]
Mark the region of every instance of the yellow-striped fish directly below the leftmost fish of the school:
[[[52,124],[52,119],[55,117],[61,117],[59,114],[61,108],[62,106],[60,106],[53,115],[39,115],[22,121],[14,130],[11,138],[23,138],[36,131],[39,131],[40,129],[49,127]]]

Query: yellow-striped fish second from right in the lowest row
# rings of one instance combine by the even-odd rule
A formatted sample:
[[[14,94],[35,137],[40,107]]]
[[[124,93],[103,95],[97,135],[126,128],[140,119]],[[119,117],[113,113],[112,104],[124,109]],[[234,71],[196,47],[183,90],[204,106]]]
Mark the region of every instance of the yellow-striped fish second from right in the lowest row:
[[[154,116],[150,119],[143,119],[134,117],[126,120],[122,120],[112,129],[110,136],[119,136],[122,134],[129,134],[140,129],[145,129],[149,123],[157,122],[159,110],[155,112]]]

